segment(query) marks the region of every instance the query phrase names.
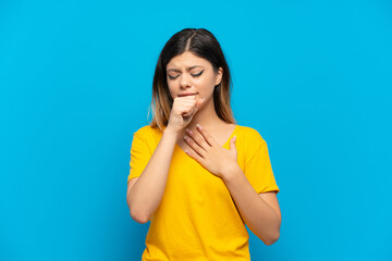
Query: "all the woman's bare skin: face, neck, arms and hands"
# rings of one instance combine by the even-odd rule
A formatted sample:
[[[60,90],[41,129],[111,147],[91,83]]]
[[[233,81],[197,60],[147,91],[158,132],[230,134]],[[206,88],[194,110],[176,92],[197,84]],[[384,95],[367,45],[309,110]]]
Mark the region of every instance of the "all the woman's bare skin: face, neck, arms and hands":
[[[150,161],[139,177],[128,182],[131,216],[146,223],[158,208],[177,144],[211,175],[224,181],[244,222],[266,245],[272,245],[281,225],[277,194],[258,195],[254,190],[237,164],[235,137],[230,140],[230,150],[222,147],[235,127],[219,119],[213,107],[213,88],[221,82],[223,70],[215,72],[208,60],[186,51],[168,63],[167,75],[173,107]],[[181,97],[185,92],[194,95]]]

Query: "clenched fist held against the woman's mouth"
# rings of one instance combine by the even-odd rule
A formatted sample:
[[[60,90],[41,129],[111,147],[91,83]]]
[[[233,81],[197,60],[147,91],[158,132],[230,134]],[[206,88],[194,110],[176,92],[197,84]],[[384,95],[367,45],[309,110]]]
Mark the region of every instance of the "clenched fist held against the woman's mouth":
[[[175,134],[184,129],[200,109],[204,100],[204,98],[196,98],[195,95],[175,97],[167,128],[172,129]]]

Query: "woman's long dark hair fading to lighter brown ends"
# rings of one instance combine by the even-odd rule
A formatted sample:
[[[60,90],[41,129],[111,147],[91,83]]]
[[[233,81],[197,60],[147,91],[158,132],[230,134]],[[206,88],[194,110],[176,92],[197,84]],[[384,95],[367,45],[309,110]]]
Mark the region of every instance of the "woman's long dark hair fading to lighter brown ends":
[[[169,91],[166,67],[172,58],[185,51],[208,60],[216,73],[219,67],[223,69],[222,79],[213,89],[215,110],[224,122],[235,123],[230,105],[232,79],[218,40],[207,29],[185,28],[169,39],[159,55],[152,82],[152,99],[149,108],[149,111],[152,111],[152,120],[149,125],[161,130],[168,125],[173,98]]]

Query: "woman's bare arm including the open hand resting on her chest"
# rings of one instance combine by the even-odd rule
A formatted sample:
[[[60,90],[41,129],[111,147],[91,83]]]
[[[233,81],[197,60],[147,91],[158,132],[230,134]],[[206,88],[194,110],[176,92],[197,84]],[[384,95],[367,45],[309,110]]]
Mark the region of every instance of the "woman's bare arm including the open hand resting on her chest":
[[[281,224],[277,195],[259,196],[253,188],[237,163],[235,136],[226,150],[204,127],[197,125],[197,130],[187,132],[185,140],[192,148],[187,154],[224,181],[245,223],[266,245],[272,245],[279,238]]]

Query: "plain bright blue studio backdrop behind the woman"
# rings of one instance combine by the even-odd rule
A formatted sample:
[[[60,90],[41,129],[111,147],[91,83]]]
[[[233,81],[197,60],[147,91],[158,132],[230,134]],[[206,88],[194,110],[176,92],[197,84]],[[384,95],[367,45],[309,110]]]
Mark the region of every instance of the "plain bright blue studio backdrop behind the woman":
[[[0,260],[140,260],[133,133],[186,28],[220,41],[240,125],[268,144],[281,235],[252,260],[392,260],[392,3],[0,2]]]

